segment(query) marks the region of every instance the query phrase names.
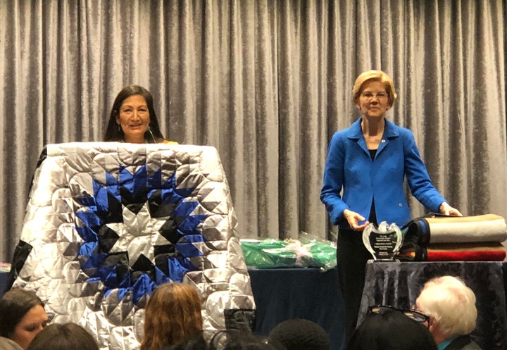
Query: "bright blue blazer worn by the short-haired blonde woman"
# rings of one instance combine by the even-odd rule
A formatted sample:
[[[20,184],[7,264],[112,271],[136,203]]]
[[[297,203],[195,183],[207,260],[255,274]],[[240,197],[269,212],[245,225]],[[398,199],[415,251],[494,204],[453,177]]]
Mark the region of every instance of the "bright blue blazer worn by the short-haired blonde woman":
[[[361,120],[334,133],[327,152],[320,200],[331,222],[350,228],[342,220],[345,209],[360,213],[368,220],[375,199],[377,222],[387,221],[401,227],[411,220],[403,189],[405,177],[413,196],[427,209],[438,213],[440,204],[446,200],[433,187],[412,132],[385,120],[384,135],[372,161],[361,131]]]

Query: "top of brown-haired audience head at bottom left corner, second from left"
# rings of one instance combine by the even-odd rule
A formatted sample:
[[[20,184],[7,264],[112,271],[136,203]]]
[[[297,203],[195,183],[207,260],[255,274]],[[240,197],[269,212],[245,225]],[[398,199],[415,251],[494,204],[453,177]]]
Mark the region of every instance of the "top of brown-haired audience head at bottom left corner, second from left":
[[[30,343],[27,350],[99,350],[92,335],[80,325],[53,324],[44,328]]]

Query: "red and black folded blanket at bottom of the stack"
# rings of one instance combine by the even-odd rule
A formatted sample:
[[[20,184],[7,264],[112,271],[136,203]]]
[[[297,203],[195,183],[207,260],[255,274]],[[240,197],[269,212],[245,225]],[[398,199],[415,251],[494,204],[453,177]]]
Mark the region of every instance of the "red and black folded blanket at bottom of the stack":
[[[499,242],[406,244],[396,258],[401,261],[503,261],[506,247]]]

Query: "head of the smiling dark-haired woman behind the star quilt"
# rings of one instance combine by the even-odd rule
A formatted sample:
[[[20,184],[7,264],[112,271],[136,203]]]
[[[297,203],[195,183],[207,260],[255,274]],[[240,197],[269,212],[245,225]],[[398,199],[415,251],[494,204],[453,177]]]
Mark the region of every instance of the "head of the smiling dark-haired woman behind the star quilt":
[[[118,93],[104,141],[155,143],[163,140],[155,113],[153,96],[139,85],[129,85]]]

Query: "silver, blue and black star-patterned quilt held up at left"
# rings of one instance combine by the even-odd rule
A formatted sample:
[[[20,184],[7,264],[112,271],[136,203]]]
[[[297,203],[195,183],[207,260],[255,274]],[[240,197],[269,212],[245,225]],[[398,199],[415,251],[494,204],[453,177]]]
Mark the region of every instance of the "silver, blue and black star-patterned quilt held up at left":
[[[101,349],[138,348],[146,302],[166,282],[194,285],[204,329],[223,330],[255,308],[236,223],[213,147],[50,144],[13,287],[35,291],[52,322],[83,325]]]

